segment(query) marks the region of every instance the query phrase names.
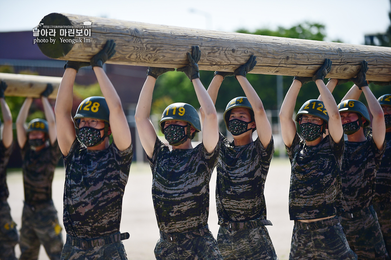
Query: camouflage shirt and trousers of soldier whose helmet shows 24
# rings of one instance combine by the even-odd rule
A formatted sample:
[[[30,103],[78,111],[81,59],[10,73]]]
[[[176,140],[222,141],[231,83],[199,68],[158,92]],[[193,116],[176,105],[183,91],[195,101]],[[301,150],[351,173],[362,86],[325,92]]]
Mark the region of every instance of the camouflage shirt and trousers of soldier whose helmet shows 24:
[[[217,244],[224,260],[278,259],[264,226],[235,231],[226,228],[230,221],[266,219],[264,187],[273,153],[273,137],[266,148],[259,137],[250,144],[234,146],[220,133],[216,205],[222,226]]]

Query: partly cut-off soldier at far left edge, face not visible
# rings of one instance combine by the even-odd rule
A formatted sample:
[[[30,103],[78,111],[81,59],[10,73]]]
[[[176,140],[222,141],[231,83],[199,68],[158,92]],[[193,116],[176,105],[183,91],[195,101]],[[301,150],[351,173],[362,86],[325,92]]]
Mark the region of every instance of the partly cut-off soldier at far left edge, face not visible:
[[[0,82],[0,105],[3,114],[3,136],[0,141],[0,259],[16,260],[15,245],[18,243],[18,231],[11,217],[7,198],[7,164],[13,148],[12,116],[11,110],[4,99],[7,84]],[[1,126],[1,121],[0,121]]]

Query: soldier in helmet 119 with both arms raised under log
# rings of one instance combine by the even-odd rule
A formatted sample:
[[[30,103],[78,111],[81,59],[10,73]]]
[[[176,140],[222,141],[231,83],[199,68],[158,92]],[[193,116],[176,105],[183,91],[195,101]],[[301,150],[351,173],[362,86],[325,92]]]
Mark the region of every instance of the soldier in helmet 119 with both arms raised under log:
[[[149,118],[152,92],[159,75],[174,69],[152,68],[136,107],[136,125],[152,169],[152,199],[160,239],[155,247],[158,260],[219,259],[222,256],[208,228],[209,181],[219,155],[217,113],[199,80],[198,46],[188,53],[190,64],[183,71],[193,82],[204,109],[202,143],[192,147],[191,139],[201,131],[197,111],[189,104],[174,103],[163,112],[161,132],[172,151],[160,141]]]

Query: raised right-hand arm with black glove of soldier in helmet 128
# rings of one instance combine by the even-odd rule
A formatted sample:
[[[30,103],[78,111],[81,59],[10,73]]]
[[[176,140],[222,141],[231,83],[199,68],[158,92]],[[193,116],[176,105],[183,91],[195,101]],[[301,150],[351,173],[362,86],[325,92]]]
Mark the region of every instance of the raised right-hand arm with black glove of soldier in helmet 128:
[[[102,91],[109,107],[109,122],[111,133],[113,134],[113,140],[117,148],[120,151],[124,151],[132,143],[129,125],[127,123],[124,109],[122,109],[120,97],[102,68],[104,62],[113,57],[114,54],[115,43],[113,40],[109,40],[106,42],[103,49],[94,55],[90,63],[98,79],[100,90]]]

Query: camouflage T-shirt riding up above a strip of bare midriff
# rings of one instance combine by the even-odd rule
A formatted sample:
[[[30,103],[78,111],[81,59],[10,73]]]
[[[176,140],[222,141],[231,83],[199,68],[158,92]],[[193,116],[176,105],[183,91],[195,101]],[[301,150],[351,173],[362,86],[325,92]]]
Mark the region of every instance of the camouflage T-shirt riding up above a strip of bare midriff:
[[[328,135],[319,144],[307,146],[296,133],[292,146],[287,148],[292,167],[291,220],[318,219],[343,212],[339,172],[344,144],[343,137],[336,144]]]

